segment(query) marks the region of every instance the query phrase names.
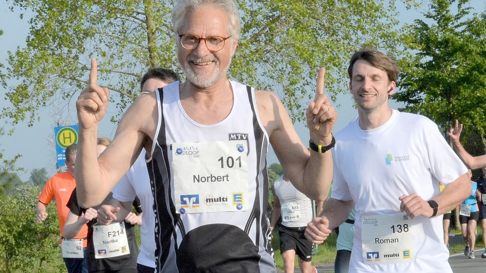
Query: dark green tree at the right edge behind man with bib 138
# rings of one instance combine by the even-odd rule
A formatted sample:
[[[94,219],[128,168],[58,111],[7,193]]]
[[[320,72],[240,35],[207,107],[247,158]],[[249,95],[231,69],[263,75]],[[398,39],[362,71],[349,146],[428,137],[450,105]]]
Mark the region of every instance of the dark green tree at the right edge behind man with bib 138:
[[[457,12],[453,13],[453,4]],[[471,14],[468,0],[432,0],[425,17],[407,26],[401,60],[404,110],[433,119],[444,136],[455,119],[466,134],[486,131],[486,13]]]

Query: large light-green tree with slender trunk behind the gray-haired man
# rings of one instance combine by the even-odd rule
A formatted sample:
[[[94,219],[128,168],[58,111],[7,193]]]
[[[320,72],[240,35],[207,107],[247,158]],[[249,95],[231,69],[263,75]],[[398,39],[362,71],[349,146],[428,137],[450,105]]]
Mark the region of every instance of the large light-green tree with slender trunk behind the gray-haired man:
[[[99,82],[115,91],[112,99],[122,113],[148,67],[179,71],[170,18],[174,3],[12,0],[11,10],[34,15],[27,46],[9,52],[5,77],[20,83],[8,87],[12,106],[0,116],[32,124],[39,108],[87,85],[90,56],[99,59]],[[303,118],[302,99],[313,94],[320,66],[326,67],[327,91],[335,96],[347,90],[344,68],[354,50],[363,44],[385,50],[396,45],[395,0],[236,3],[243,26],[230,77],[277,91],[294,119]]]

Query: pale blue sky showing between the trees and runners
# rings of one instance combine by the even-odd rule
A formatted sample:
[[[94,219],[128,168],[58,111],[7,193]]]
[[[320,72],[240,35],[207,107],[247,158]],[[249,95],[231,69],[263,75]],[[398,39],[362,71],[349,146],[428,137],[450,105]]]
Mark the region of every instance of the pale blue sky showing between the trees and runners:
[[[477,11],[483,11],[486,0],[473,0],[471,3],[473,3]],[[423,9],[402,12],[405,10],[400,5],[398,10],[400,11],[398,17],[401,22],[400,24],[412,23],[414,19],[423,18],[421,16]],[[0,36],[0,63],[6,63],[5,60],[8,57],[7,51],[15,51],[17,46],[25,46],[25,39],[29,31],[29,25],[25,18],[26,16],[24,16],[24,19],[20,19],[19,12],[11,12],[8,9],[8,1],[0,1],[0,29],[4,32]],[[88,78],[88,75],[86,75],[86,78]],[[14,82],[10,82],[9,84],[14,84]],[[0,87],[0,93],[2,94],[0,97],[0,108],[9,106],[8,102],[4,99],[5,90],[2,87]],[[64,107],[65,111],[59,119],[67,121],[68,124],[75,124],[77,123],[75,100],[76,98],[73,98],[71,102],[63,102],[58,106],[42,109],[39,113],[41,115],[41,121],[36,122],[34,126],[28,127],[26,123],[20,123],[15,126],[15,133],[12,136],[5,135],[0,137],[0,149],[3,150],[6,158],[11,158],[15,154],[22,155],[17,161],[17,166],[25,169],[24,173],[19,173],[23,180],[29,179],[30,171],[34,168],[45,167],[49,175],[55,173],[56,157],[53,131],[56,126],[55,120],[58,116],[55,114],[55,110]],[[336,103],[340,105],[337,108],[339,118],[335,126],[335,131],[338,131],[356,117],[357,112],[353,108],[352,97],[349,93],[340,94],[337,97]],[[392,101],[391,107],[398,108],[399,105]],[[110,113],[107,116],[109,115]],[[5,128],[11,128],[11,124],[9,124],[11,122],[10,120],[2,120],[1,122],[1,125],[5,125]],[[8,123],[5,124],[5,122]],[[61,125],[67,124],[63,123]],[[308,129],[303,123],[296,124],[296,129],[302,141],[306,144],[309,140]],[[100,125],[99,136],[113,138],[115,130],[116,125],[109,122],[109,117],[105,117]],[[270,149],[268,163],[273,162],[278,161]]]

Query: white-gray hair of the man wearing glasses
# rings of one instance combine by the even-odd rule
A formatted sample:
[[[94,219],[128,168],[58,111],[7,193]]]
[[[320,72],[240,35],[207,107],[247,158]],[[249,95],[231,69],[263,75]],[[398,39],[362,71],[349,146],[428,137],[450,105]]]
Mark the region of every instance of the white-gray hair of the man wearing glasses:
[[[172,9],[172,26],[176,36],[186,12],[204,5],[213,5],[223,10],[228,16],[228,31],[233,39],[238,39],[241,31],[241,21],[238,9],[233,0],[179,0]]]

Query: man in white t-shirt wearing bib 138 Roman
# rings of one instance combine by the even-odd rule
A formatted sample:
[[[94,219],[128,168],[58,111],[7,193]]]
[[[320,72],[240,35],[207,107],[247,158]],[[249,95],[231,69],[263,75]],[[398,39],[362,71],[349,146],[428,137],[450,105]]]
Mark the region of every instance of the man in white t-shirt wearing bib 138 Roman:
[[[389,108],[398,72],[378,51],[353,55],[348,74],[358,118],[336,134],[331,198],[306,237],[322,243],[354,203],[351,273],[451,273],[436,216],[464,200],[471,183],[434,122]]]

